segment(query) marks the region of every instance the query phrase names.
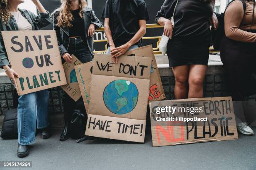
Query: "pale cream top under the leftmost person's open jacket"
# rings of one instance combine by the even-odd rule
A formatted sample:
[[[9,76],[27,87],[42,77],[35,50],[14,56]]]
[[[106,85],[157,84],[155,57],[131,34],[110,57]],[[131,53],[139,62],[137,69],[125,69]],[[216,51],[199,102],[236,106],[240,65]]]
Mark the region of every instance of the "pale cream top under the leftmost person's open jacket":
[[[21,15],[20,11],[11,13],[17,22],[19,30],[33,30],[32,25],[28,22],[28,20],[25,17],[23,17],[23,15]]]

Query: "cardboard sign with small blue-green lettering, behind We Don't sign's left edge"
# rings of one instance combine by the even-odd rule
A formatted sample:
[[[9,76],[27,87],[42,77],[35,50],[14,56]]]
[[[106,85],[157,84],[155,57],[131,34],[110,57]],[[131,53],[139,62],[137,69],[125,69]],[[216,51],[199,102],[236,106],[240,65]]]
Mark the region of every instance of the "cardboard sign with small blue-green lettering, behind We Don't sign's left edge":
[[[93,62],[87,62],[81,65],[75,66],[77,81],[83,97],[84,106],[87,115],[89,114],[89,102],[90,102],[90,85],[92,80],[92,64]]]

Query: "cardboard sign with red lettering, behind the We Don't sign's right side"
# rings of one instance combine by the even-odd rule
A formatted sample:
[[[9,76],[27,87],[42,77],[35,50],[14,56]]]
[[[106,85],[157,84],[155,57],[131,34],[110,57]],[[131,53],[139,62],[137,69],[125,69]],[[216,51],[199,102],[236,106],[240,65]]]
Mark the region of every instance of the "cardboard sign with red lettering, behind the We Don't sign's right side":
[[[165,99],[164,88],[161,82],[161,77],[157,67],[156,58],[154,55],[152,45],[129,50],[125,53],[125,55],[150,57],[152,59],[148,102]]]

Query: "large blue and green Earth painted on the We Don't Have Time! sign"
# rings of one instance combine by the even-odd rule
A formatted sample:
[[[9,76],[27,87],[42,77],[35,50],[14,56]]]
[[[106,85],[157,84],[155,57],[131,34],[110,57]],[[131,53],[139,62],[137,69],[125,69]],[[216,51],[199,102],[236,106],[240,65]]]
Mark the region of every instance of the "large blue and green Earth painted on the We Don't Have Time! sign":
[[[117,115],[131,112],[138,101],[138,89],[128,80],[110,82],[103,92],[106,107]]]

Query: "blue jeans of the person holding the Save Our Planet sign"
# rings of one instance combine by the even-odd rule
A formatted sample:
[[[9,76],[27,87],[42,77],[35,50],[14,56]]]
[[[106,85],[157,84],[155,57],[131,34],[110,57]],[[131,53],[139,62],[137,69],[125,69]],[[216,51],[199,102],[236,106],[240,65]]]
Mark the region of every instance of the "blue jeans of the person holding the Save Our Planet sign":
[[[18,105],[18,143],[29,145],[34,142],[36,126],[49,126],[49,93],[47,90],[20,95]]]

